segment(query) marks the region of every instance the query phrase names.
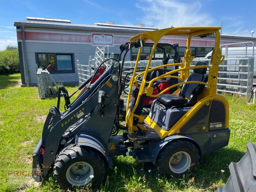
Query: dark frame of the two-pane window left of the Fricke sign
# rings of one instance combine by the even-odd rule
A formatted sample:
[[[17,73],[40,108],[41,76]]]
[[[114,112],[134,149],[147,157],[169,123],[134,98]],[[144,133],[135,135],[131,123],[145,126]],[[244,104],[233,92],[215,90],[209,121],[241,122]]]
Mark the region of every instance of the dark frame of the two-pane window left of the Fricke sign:
[[[54,54],[54,63],[55,63],[55,69],[49,70],[49,73],[51,74],[62,74],[62,73],[75,73],[75,57],[74,53],[54,53],[54,52],[35,52],[36,56],[36,65],[37,68],[39,68],[39,54]],[[72,64],[72,70],[58,70],[58,61],[57,61],[57,55],[70,55],[71,56],[71,64]]]

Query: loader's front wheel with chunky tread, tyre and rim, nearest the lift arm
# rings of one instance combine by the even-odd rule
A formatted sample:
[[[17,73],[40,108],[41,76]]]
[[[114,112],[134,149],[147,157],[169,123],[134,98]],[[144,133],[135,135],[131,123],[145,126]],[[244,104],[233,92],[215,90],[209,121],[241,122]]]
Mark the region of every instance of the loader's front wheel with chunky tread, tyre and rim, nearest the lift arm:
[[[105,174],[105,162],[95,149],[72,144],[60,152],[53,170],[55,183],[64,189],[72,189],[90,182],[100,184]]]

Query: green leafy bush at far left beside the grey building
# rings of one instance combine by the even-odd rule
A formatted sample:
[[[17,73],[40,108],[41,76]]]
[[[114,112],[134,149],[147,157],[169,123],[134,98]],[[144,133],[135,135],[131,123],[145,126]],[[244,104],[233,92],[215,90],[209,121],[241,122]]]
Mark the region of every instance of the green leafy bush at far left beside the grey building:
[[[0,75],[20,73],[18,49],[0,51]]]

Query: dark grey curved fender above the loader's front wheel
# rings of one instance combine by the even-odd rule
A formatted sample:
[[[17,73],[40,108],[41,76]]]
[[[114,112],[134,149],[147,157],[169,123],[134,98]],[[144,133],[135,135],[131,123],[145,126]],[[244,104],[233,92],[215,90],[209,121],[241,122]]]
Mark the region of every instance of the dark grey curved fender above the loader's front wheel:
[[[108,156],[108,150],[100,140],[93,138],[90,135],[80,134],[76,135],[76,145],[87,146],[96,149],[106,158],[109,168],[113,168],[112,158]]]

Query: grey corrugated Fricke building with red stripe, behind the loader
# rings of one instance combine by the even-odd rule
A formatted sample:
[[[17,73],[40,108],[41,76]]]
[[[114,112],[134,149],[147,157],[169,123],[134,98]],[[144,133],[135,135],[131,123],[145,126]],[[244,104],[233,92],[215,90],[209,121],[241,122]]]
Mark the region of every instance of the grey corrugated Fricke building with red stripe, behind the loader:
[[[157,28],[123,26],[110,23],[92,25],[73,24],[69,20],[27,18],[15,21],[20,56],[20,71],[23,85],[36,85],[37,68],[48,68],[53,79],[64,84],[78,84],[76,60],[88,64],[94,56],[96,47],[108,45],[108,52],[117,57],[120,45],[129,42],[129,38],[145,31]],[[221,44],[254,41],[255,38],[221,35]],[[195,57],[203,57],[212,51],[214,37],[193,38],[191,52]],[[160,43],[179,44],[180,56],[186,48],[186,37],[164,37]],[[141,60],[147,58],[150,49],[143,47]],[[166,50],[168,53],[168,50]],[[137,50],[134,48],[126,55],[126,60],[134,60]],[[107,57],[107,55],[106,55]],[[145,58],[144,58],[145,57]]]

